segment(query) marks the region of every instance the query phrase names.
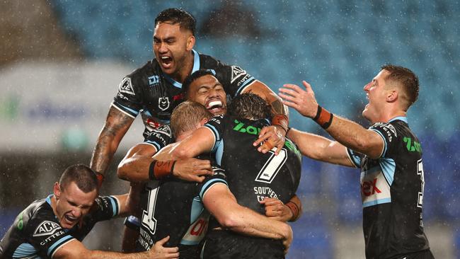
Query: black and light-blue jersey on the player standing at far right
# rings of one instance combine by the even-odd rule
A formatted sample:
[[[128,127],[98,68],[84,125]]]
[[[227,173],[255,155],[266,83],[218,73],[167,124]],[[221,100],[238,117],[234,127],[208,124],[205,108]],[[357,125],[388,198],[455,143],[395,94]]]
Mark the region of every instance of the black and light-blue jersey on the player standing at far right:
[[[406,117],[369,129],[384,140],[379,159],[347,149],[361,168],[366,258],[393,258],[429,249],[422,224],[422,149]]]

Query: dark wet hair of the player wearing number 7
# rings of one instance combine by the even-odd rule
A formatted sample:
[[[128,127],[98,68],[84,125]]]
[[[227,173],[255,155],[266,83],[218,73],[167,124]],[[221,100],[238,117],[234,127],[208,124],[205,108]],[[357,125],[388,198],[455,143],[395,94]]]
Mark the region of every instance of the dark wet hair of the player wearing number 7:
[[[241,119],[260,120],[271,117],[270,105],[254,93],[242,93],[229,105],[229,115]]]

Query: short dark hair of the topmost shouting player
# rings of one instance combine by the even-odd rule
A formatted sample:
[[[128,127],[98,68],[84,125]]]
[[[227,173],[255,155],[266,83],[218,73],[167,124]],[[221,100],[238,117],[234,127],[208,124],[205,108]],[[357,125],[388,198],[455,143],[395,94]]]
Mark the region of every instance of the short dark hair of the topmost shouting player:
[[[155,26],[158,23],[179,23],[180,28],[190,30],[195,36],[197,20],[188,11],[180,8],[168,8],[161,11],[155,18]]]

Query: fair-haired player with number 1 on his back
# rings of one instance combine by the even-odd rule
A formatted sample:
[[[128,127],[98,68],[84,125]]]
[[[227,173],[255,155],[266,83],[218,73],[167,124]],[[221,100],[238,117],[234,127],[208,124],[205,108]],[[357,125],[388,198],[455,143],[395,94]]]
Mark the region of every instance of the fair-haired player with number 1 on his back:
[[[197,127],[204,125],[212,113],[200,103],[185,101],[173,110],[171,129],[177,141],[188,137]],[[144,146],[145,147],[145,146]],[[150,153],[149,153],[150,150]],[[222,169],[214,169],[215,173],[208,176],[202,183],[185,182],[183,180],[158,180],[159,173],[156,156],[151,158],[152,149],[138,148],[136,155],[127,157],[132,171],[122,173],[130,180],[146,180],[140,173],[149,172],[149,182],[141,195],[141,215],[139,221],[140,236],[137,251],[149,249],[159,240],[160,236],[168,233],[171,239],[165,246],[178,246],[181,258],[199,258],[198,244],[207,232],[209,213],[203,209],[214,204],[226,205],[215,208],[212,212],[220,213],[225,226],[234,231],[266,238],[283,239],[286,247],[292,239],[289,226],[257,214],[251,209],[241,207],[226,187],[226,179]],[[147,152],[147,153],[146,153]],[[208,161],[209,162],[209,161]],[[120,167],[123,167],[122,161]],[[173,163],[168,162],[168,163]],[[131,173],[130,173],[131,172]],[[120,172],[119,172],[120,173]],[[167,173],[167,172],[166,172]],[[163,177],[164,178],[164,177]],[[214,186],[214,185],[222,186]],[[219,195],[209,193],[217,192]],[[229,212],[229,208],[231,212]],[[154,222],[154,223],[153,223]]]

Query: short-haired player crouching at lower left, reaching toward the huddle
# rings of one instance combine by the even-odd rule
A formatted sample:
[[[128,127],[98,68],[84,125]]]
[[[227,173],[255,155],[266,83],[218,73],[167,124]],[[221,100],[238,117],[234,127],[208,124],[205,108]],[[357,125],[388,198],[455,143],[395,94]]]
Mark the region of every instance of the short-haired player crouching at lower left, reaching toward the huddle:
[[[178,258],[178,248],[163,248],[168,236],[144,253],[91,251],[83,239],[98,221],[126,215],[127,195],[98,197],[96,173],[69,166],[53,194],[21,212],[0,241],[0,258]]]

